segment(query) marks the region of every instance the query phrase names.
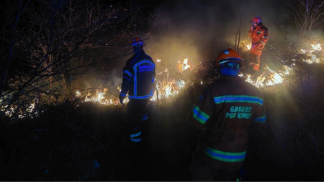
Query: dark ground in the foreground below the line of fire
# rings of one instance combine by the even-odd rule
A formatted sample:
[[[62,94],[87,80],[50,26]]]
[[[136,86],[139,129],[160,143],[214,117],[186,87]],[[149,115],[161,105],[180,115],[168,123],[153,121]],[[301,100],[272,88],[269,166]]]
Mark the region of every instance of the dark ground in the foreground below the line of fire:
[[[65,103],[36,119],[5,120],[0,179],[190,181],[198,140],[188,117],[201,89],[192,87],[159,107],[152,103],[139,145],[128,141],[121,105]],[[267,122],[250,128],[243,181],[324,181],[322,90],[316,86],[309,95],[283,85],[262,90]]]

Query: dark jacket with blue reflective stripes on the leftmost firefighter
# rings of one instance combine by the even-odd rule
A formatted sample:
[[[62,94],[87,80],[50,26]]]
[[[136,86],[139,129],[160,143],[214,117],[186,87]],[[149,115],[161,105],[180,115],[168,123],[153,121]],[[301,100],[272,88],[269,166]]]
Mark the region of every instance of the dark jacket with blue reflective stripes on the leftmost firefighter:
[[[147,99],[153,95],[155,63],[150,56],[136,52],[123,68],[121,96],[129,99]]]

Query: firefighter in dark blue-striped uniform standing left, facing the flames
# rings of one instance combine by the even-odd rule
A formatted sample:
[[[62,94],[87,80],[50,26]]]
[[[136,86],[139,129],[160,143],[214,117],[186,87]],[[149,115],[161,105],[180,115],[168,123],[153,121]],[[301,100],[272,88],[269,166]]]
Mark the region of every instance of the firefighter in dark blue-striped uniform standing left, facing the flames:
[[[140,142],[142,140],[141,121],[148,119],[147,107],[150,97],[153,95],[155,63],[150,56],[145,54],[144,42],[140,38],[135,38],[132,42],[134,55],[128,59],[123,68],[123,83],[119,101],[128,94],[130,101],[127,104],[128,127],[130,130],[130,140]]]

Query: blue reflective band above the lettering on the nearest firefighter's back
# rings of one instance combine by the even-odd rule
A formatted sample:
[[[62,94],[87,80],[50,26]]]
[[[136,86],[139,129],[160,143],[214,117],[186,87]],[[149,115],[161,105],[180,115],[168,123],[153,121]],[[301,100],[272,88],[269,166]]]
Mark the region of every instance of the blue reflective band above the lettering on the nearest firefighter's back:
[[[247,96],[247,95],[224,95],[221,97],[214,97],[214,102],[219,103],[257,103],[263,104],[263,99],[259,97]]]

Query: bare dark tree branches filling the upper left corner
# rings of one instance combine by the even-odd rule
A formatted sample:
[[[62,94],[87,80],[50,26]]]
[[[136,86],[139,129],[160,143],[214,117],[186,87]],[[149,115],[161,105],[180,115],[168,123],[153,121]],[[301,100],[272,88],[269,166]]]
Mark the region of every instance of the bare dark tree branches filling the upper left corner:
[[[131,5],[100,1],[6,0],[0,112],[23,98],[47,100],[54,89],[64,96],[94,66],[126,55],[112,50],[128,47],[145,19]]]

